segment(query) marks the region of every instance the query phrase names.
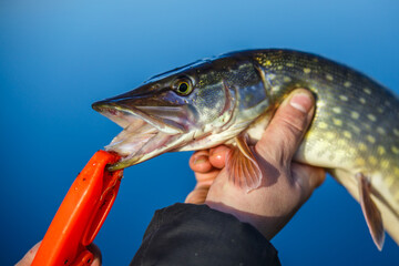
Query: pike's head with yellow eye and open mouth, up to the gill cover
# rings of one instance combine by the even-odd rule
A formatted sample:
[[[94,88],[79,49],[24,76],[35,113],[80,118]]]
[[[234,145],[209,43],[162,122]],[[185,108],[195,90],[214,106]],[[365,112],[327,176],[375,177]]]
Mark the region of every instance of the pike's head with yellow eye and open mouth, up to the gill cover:
[[[229,58],[197,61],[93,103],[95,111],[124,129],[105,147],[123,156],[111,170],[170,151],[205,149],[232,137],[208,137],[232,122],[237,105],[237,88],[232,85],[237,75],[232,68],[238,69],[238,62]]]

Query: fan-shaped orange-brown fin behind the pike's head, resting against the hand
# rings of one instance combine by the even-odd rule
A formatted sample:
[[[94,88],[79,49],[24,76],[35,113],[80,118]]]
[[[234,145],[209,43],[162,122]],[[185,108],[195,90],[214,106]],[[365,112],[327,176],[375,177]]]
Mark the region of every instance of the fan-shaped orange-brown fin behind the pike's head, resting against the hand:
[[[248,146],[247,135],[236,136],[235,142],[237,146],[228,152],[226,160],[228,180],[250,192],[260,186],[262,171],[253,150]]]

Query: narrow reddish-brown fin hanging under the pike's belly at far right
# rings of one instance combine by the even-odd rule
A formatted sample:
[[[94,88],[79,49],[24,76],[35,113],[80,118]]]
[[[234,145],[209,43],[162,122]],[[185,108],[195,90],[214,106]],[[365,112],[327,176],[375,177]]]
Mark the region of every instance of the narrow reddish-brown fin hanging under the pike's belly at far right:
[[[383,224],[381,213],[371,198],[370,181],[361,173],[358,173],[356,177],[359,181],[360,205],[367,226],[369,227],[374,243],[377,248],[381,250],[385,241]]]

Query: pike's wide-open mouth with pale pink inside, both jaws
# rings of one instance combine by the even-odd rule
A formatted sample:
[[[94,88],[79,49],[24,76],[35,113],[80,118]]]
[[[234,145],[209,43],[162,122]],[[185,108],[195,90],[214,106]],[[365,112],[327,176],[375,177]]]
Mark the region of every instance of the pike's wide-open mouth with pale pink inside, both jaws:
[[[125,106],[117,102],[102,101],[92,108],[106,116],[123,131],[105,146],[122,158],[109,166],[116,171],[139,164],[158,154],[183,145],[190,123],[185,106]]]

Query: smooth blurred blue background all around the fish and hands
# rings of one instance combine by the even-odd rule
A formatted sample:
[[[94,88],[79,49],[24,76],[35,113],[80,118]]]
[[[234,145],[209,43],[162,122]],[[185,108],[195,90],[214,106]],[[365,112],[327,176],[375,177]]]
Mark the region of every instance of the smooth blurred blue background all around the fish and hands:
[[[149,76],[233,50],[291,48],[399,90],[399,3],[375,1],[0,1],[0,265],[44,235],[69,186],[121,129],[91,103]],[[127,265],[154,211],[194,186],[191,153],[125,170],[95,243]],[[398,265],[331,177],[273,239],[284,265]]]

